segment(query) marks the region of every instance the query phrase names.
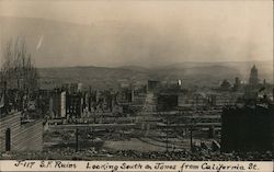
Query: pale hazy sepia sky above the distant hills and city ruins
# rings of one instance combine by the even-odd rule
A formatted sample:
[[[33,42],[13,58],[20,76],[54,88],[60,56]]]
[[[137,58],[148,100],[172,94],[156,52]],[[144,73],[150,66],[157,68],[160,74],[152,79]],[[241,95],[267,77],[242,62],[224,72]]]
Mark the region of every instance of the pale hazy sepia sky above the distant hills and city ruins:
[[[38,66],[152,66],[273,57],[271,0],[2,0],[0,15],[87,25],[71,36],[77,44],[53,32],[34,35],[30,49]],[[83,41],[79,43],[77,35]]]

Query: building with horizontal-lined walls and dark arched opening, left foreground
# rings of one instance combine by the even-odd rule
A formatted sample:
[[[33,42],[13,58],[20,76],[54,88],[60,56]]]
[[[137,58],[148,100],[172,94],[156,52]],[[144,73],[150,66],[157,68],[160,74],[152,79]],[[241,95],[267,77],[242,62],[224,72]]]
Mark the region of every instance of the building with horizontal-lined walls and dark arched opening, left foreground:
[[[15,104],[10,103],[14,102],[11,100],[15,98],[9,98],[7,94],[9,91],[5,88],[1,88],[0,92],[0,151],[42,150],[43,122],[22,118],[24,112],[18,110]]]

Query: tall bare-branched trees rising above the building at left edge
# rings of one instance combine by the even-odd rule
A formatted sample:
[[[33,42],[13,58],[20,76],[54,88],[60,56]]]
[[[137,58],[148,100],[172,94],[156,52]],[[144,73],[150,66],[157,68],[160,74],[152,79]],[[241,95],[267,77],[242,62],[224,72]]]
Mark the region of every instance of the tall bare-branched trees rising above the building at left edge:
[[[38,73],[24,39],[10,41],[3,48],[1,80],[11,89],[31,93],[38,88]]]

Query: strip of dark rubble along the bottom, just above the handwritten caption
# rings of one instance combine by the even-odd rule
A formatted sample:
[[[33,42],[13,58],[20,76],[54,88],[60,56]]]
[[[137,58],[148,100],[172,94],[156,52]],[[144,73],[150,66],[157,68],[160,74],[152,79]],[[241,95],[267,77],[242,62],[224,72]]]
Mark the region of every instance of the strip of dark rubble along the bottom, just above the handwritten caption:
[[[42,152],[1,152],[0,159],[42,159],[42,160],[183,160],[183,161],[261,161],[272,160],[273,152],[246,152],[246,153],[218,153],[218,152],[191,152],[170,151],[170,152],[139,152],[135,150],[106,151],[89,149],[78,151],[66,148],[58,150],[47,150]]]

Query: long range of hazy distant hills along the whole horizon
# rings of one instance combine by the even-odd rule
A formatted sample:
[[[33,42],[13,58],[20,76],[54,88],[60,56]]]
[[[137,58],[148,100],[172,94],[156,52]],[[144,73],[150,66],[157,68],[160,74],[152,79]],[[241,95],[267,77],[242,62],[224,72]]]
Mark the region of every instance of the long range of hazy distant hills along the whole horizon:
[[[144,68],[126,66],[118,68],[105,67],[66,67],[66,68],[41,68],[41,80],[56,84],[68,82],[82,82],[93,88],[117,88],[119,83],[141,82],[148,79],[161,81],[174,81],[181,79],[185,85],[218,85],[224,79],[231,83],[235,77],[248,81],[251,67],[255,64],[259,69],[261,81],[272,81],[272,62],[189,62],[176,64],[158,68]]]

